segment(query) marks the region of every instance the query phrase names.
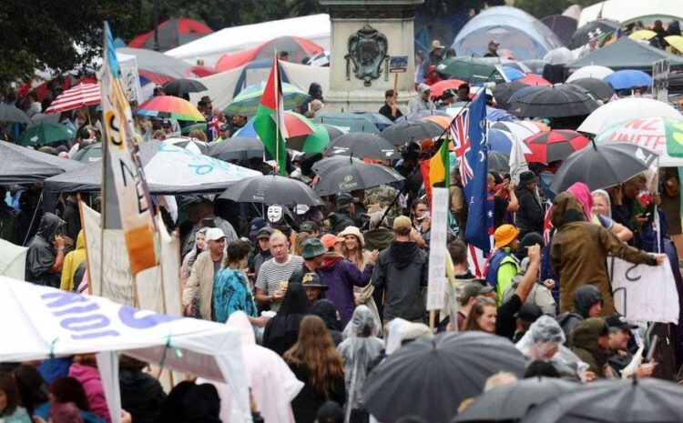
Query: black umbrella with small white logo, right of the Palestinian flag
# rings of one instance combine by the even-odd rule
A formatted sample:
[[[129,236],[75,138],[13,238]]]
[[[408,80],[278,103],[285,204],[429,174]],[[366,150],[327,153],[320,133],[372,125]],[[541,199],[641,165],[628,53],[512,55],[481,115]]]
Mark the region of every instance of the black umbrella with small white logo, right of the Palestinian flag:
[[[315,186],[320,196],[331,196],[341,192],[368,189],[382,184],[402,181],[398,172],[382,165],[354,162],[349,157],[345,166],[332,166],[328,171],[319,174],[321,180]]]

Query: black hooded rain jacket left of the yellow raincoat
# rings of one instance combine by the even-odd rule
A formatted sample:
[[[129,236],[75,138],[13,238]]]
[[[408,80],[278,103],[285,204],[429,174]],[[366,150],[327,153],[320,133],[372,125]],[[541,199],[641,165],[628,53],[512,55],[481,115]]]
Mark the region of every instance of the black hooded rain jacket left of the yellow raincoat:
[[[65,225],[64,220],[52,213],[46,213],[40,219],[38,231],[28,243],[26,252],[26,280],[28,282],[49,287],[59,286],[59,274],[50,273],[49,270],[55,264],[57,254],[52,242]]]

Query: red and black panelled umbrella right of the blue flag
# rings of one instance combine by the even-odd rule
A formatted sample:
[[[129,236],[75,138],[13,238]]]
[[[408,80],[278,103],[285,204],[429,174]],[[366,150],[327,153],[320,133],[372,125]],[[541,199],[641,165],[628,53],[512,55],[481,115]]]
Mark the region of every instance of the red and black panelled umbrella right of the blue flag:
[[[531,153],[525,154],[527,162],[550,163],[564,160],[590,143],[586,136],[569,129],[557,129],[529,136],[525,139]]]

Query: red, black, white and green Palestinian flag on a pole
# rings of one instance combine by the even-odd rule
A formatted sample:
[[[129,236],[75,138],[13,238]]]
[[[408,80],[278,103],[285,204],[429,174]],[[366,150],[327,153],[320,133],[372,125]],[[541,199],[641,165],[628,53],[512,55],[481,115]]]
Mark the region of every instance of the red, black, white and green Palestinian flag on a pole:
[[[280,81],[280,66],[274,58],[268,82],[260,97],[259,108],[254,116],[254,129],[259,134],[263,146],[275,158],[280,167],[280,175],[287,172],[287,149],[285,138],[287,129],[284,125],[284,101],[282,101],[282,81]]]

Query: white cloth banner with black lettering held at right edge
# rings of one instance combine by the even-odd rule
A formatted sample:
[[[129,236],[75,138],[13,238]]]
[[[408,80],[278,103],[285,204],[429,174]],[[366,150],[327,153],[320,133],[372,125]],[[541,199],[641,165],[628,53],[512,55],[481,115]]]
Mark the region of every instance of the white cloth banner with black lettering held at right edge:
[[[678,291],[668,259],[662,266],[607,258],[617,312],[628,320],[678,325]]]

